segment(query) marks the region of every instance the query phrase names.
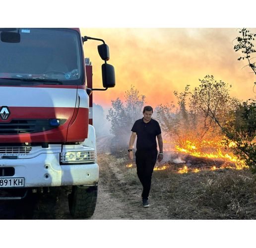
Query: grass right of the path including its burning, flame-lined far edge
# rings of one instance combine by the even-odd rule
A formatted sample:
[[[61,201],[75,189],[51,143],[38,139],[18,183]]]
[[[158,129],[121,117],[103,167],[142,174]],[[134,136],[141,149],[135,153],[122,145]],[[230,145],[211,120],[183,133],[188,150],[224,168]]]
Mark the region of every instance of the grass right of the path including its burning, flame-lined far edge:
[[[135,163],[126,151],[116,155],[126,158],[119,168],[140,194]],[[165,151],[167,156],[155,166],[149,197],[153,208],[168,213],[167,219],[256,219],[256,176],[249,169],[226,158]]]

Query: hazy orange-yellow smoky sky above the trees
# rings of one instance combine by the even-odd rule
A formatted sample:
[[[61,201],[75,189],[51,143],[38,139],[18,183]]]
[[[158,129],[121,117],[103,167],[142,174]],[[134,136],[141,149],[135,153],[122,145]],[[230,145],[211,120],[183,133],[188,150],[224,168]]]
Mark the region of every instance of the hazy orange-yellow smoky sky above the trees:
[[[250,30],[256,33],[255,28]],[[108,63],[115,66],[116,87],[93,92],[93,102],[104,107],[111,107],[117,97],[124,100],[131,84],[146,96],[148,105],[176,102],[174,90],[181,92],[187,84],[192,89],[207,74],[232,84],[232,96],[254,96],[255,75],[248,67],[242,69],[246,62],[239,62],[240,54],[233,49],[236,28],[81,28],[81,34],[102,38],[110,47]],[[97,88],[102,86],[100,44],[84,43]]]

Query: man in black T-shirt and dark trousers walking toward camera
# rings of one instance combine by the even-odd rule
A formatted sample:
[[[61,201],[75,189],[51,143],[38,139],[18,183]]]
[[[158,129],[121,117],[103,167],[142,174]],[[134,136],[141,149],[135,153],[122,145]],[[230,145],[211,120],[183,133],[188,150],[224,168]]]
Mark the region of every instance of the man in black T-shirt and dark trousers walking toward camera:
[[[133,159],[133,143],[137,136],[135,160],[137,166],[137,175],[143,186],[141,194],[143,207],[148,207],[148,195],[151,186],[151,176],[157,159],[157,144],[159,145],[158,162],[163,159],[163,139],[159,123],[152,119],[153,108],[145,106],[143,109],[143,118],[137,120],[131,128],[129,141],[129,159]]]

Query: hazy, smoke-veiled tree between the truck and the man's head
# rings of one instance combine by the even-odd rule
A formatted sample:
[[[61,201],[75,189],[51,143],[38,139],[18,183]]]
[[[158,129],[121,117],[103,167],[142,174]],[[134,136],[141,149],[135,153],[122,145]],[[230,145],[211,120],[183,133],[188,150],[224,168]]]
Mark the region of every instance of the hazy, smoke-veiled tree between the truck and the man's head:
[[[118,143],[127,140],[134,122],[142,118],[144,104],[145,96],[139,95],[138,90],[132,85],[125,92],[125,103],[120,98],[111,101],[112,108],[109,110],[107,120],[111,123],[110,132],[116,136]]]

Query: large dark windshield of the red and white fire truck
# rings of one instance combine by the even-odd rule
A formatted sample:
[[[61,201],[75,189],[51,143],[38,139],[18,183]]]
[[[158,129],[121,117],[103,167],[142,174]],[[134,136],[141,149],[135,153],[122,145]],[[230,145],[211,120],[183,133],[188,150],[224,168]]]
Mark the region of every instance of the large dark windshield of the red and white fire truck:
[[[0,84],[83,84],[78,32],[64,28],[1,28],[0,33],[6,34],[6,30],[19,33],[20,41],[0,39]]]

